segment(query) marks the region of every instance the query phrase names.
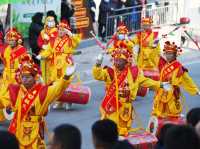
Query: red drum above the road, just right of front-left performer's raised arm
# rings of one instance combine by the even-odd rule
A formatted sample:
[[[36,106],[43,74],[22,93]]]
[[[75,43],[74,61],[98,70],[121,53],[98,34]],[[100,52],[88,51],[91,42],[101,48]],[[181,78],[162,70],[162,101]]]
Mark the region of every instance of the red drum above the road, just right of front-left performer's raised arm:
[[[66,103],[87,104],[91,90],[87,86],[70,84],[58,101]]]

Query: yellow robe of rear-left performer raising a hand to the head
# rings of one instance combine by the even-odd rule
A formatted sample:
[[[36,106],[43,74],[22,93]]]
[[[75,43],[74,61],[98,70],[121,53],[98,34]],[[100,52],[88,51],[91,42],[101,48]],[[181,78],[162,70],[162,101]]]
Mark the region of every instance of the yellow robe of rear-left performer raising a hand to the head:
[[[42,77],[47,84],[64,76],[66,67],[71,65],[71,63],[67,61],[67,58],[72,57],[75,48],[80,43],[80,36],[74,35],[71,38],[71,45],[65,43],[62,47],[62,52],[57,52],[55,49],[61,40],[60,37],[57,37],[53,44],[49,43],[48,48],[40,53],[41,57],[45,58],[44,61],[51,59],[51,64],[46,67],[42,66]],[[46,71],[44,71],[45,69]],[[44,72],[48,72],[48,74]]]

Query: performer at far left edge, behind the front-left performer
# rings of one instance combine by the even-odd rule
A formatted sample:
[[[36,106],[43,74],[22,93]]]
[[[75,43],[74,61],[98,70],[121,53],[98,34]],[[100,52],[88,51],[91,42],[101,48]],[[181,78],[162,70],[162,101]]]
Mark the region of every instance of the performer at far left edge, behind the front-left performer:
[[[14,28],[9,29],[5,35],[8,45],[5,45],[1,53],[5,69],[3,79],[8,83],[15,83],[15,71],[19,66],[21,59],[27,55],[27,50],[22,46],[22,35]]]

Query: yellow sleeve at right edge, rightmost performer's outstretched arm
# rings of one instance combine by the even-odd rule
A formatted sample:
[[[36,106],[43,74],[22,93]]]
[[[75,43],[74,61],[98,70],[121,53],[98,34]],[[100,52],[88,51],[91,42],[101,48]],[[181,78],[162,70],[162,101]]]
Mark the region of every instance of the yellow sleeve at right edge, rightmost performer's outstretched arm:
[[[181,78],[181,86],[191,95],[196,95],[199,92],[198,86],[194,83],[187,72],[184,72]]]

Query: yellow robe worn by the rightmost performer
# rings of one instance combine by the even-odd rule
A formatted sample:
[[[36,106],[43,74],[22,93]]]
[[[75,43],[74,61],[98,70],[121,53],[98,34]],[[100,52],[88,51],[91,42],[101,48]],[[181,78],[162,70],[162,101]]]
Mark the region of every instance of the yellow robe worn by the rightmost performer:
[[[169,64],[166,64],[161,70],[161,78],[162,75],[164,75],[163,70],[168,65]],[[189,76],[188,72],[184,71],[183,67],[176,68],[167,81],[173,86],[172,90],[164,91],[160,88],[156,91],[152,115],[157,117],[178,117],[182,112],[180,87],[183,87],[191,95],[196,95],[199,89]]]

